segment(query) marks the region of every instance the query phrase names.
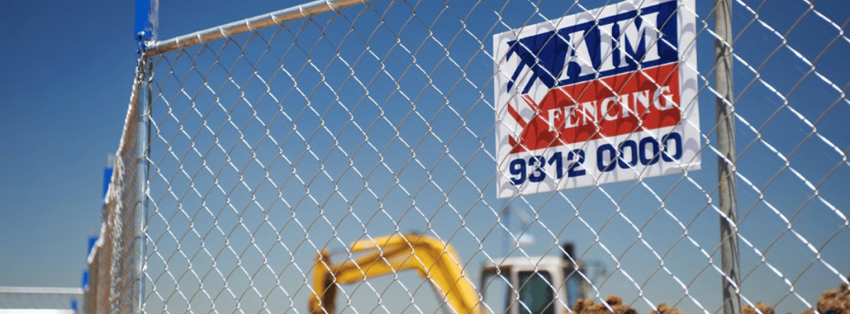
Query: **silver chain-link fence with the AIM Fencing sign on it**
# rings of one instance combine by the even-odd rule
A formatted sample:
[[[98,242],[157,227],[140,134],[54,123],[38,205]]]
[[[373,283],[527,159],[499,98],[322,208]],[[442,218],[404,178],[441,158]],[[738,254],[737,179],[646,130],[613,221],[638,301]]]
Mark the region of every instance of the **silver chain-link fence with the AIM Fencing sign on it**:
[[[506,312],[506,304],[519,304],[519,310],[507,307],[512,313],[561,308],[554,305],[591,311],[589,303],[576,305],[579,299],[603,305],[600,311],[621,313],[626,306],[638,313],[676,308],[689,314],[719,313],[729,298],[740,300],[745,311],[762,302],[757,309],[765,314],[763,305],[780,313],[824,313],[830,307],[820,305],[832,304],[831,297],[838,305],[850,302],[846,4],[733,1],[730,36],[724,36],[715,20],[722,10],[714,3],[674,1],[672,18],[657,25],[645,16],[660,16],[653,11],[660,2],[627,3],[619,5],[630,9],[617,7],[623,9],[605,15],[594,9],[615,3],[317,2],[149,42],[118,154],[123,161],[114,178],[122,179],[113,179],[111,188],[116,206],[105,214],[117,242],[106,250],[115,260],[100,269],[111,274],[104,284],[120,290],[106,299],[109,308],[307,313],[311,294],[325,293],[316,288],[322,280],[316,273],[331,270],[338,276],[331,277],[338,284],[330,283],[337,295],[322,302],[336,303],[339,312],[458,312],[445,290],[433,288],[439,283],[436,271],[421,272],[425,280],[400,268],[371,278],[371,271],[360,267],[363,278],[343,284],[342,271],[315,260],[326,251],[331,262],[352,261],[360,256],[354,242],[378,242],[393,234],[450,244],[456,251],[451,263],[460,267],[456,278],[470,278],[479,291],[464,297],[493,313]],[[557,46],[550,42],[575,42],[562,36],[577,25],[559,20],[564,16],[574,16],[575,23],[598,19],[590,20],[588,30],[614,23],[609,35],[615,39],[630,27],[641,32],[611,43],[609,53],[590,53],[584,68],[570,59],[579,54],[557,54],[579,51],[577,44],[555,49],[550,60],[561,58],[566,65],[563,72],[547,72],[552,64],[542,61],[545,49]],[[687,16],[692,23],[677,20]],[[666,36],[665,25],[677,21],[689,26],[679,32],[690,37]],[[558,35],[537,36],[539,49],[512,46],[536,58],[525,68],[515,64],[523,62],[517,61],[522,51],[509,59],[494,47],[500,34],[514,31],[508,39],[521,42],[525,35],[516,34],[541,29]],[[591,32],[583,36],[590,38]],[[625,50],[618,50],[621,46]],[[666,81],[643,68],[649,51],[667,46],[694,53],[693,62],[674,63],[674,70],[693,73],[681,76],[688,79],[681,84],[691,88],[690,101],[684,94],[666,94],[661,89]],[[723,65],[730,81],[717,81],[716,48],[731,53],[731,64]],[[643,57],[634,58],[638,54]],[[547,122],[544,129],[558,123],[552,111],[539,109],[542,105],[535,111],[546,101],[536,95],[547,95],[548,89],[513,92],[508,96],[513,106],[519,108],[529,95],[531,109],[506,109],[494,98],[506,80],[515,80],[516,88],[538,88],[587,67],[591,76],[603,77],[608,72],[598,64],[610,61],[617,67],[619,60],[642,73],[634,80],[660,92],[626,93],[626,87],[603,84],[588,97],[631,97],[635,111],[620,115],[638,116],[638,104],[649,112],[650,104],[668,100],[681,112],[699,115],[671,126],[694,128],[691,139],[677,148],[679,153],[693,149],[693,163],[683,160],[677,171],[659,176],[649,165],[680,158],[670,144],[675,137],[650,132],[640,120],[632,131],[643,127],[645,133],[607,135],[599,130],[611,111],[584,120],[596,127],[590,135],[601,141],[596,146],[567,145],[583,149],[581,160],[584,152],[587,160],[596,160],[585,165],[578,150],[553,150],[556,140],[537,150],[527,143],[501,144],[507,141],[501,127],[519,134],[535,121]],[[572,69],[574,61],[579,64]],[[500,68],[511,62],[525,70]],[[728,90],[718,87],[724,83]],[[593,108],[603,106],[597,105]],[[718,127],[726,115],[732,126]],[[511,116],[516,123],[496,116]],[[581,121],[564,116],[570,114],[559,118],[567,119],[564,124]],[[727,156],[718,145],[721,129],[731,130],[734,154]],[[641,146],[629,151],[627,143]],[[610,146],[608,165],[600,157],[604,154],[591,150],[608,149],[605,145]],[[506,147],[534,152],[511,160],[500,153]],[[652,154],[638,156],[647,151]],[[648,170],[639,171],[644,168],[638,160]],[[721,205],[724,192],[716,171],[727,164],[737,183],[731,188],[737,215],[731,217]],[[628,180],[605,179],[618,165]],[[497,192],[521,191],[541,176],[567,181],[573,171],[585,171],[587,184],[541,193]],[[738,243],[734,276],[722,265],[728,257],[722,253],[722,225]],[[570,250],[563,246],[568,242]],[[445,249],[445,255],[449,252]],[[523,299],[525,287],[534,286],[530,279],[517,284],[504,273],[507,292],[484,289],[501,284],[485,276],[494,269],[490,266],[525,263],[540,273],[549,261],[545,256],[564,254],[570,265],[581,266],[585,288],[575,297],[554,293],[537,311],[534,302]],[[553,278],[544,282],[556,291],[569,285]],[[727,282],[733,295],[724,297]],[[850,306],[843,304],[846,313]]]

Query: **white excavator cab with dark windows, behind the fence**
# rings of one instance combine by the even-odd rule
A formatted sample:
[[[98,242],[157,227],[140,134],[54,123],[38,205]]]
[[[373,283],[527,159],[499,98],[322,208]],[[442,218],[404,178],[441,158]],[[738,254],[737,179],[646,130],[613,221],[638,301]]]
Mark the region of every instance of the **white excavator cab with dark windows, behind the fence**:
[[[493,314],[564,314],[575,301],[586,299],[589,284],[581,265],[568,257],[519,256],[485,265],[481,271],[481,296]]]

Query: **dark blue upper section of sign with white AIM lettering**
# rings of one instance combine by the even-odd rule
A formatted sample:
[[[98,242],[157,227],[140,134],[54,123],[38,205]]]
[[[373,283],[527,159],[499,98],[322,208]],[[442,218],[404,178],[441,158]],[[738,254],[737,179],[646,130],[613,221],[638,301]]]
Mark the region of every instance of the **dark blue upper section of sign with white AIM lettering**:
[[[548,89],[614,76],[678,60],[677,2],[669,1],[507,42],[506,59],[519,58],[507,81],[513,89],[530,71],[522,93],[537,81]],[[589,63],[589,64],[587,64]]]

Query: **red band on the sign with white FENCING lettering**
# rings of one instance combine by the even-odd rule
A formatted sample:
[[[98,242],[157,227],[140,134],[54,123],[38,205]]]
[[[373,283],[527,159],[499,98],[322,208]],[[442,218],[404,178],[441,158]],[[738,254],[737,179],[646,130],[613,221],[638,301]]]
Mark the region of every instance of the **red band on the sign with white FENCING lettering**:
[[[521,125],[519,141],[511,138],[511,154],[675,126],[679,99],[676,63],[553,88]],[[508,111],[515,112],[511,105]]]

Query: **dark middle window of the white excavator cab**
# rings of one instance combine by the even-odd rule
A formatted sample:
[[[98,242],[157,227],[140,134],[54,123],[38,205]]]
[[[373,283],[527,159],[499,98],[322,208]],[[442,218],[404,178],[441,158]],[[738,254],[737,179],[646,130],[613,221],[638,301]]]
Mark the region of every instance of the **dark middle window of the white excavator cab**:
[[[555,314],[555,292],[549,272],[519,272],[520,314]]]

